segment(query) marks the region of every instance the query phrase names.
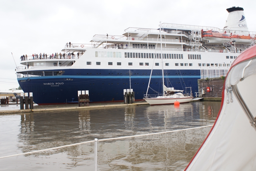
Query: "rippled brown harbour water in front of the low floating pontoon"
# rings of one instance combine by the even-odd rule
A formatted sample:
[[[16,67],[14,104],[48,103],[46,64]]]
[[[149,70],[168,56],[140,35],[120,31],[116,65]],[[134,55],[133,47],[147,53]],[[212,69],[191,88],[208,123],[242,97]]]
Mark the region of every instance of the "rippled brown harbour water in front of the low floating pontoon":
[[[212,125],[220,104],[198,101],[180,107],[139,105],[0,115],[0,157],[95,138]],[[210,129],[99,142],[98,170],[184,170]],[[94,170],[94,143],[4,158],[0,165],[0,170]]]

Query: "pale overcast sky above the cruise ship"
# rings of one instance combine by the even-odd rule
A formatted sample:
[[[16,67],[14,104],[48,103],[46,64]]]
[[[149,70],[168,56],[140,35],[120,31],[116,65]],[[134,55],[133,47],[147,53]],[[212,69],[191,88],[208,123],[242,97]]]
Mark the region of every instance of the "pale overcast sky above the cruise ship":
[[[158,28],[160,21],[222,29],[232,6],[244,8],[256,32],[255,0],[0,0],[0,90],[19,86],[23,54],[60,53],[66,42],[89,44],[95,34]]]

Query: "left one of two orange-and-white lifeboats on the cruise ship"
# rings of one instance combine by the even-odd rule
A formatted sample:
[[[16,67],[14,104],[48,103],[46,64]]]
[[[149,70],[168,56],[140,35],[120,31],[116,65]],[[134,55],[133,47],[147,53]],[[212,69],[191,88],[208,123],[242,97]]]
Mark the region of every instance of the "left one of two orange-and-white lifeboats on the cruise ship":
[[[214,30],[208,30],[206,32],[201,31],[202,40],[206,40],[208,43],[217,43],[222,44],[226,42],[230,42],[230,37],[226,32],[220,33]]]

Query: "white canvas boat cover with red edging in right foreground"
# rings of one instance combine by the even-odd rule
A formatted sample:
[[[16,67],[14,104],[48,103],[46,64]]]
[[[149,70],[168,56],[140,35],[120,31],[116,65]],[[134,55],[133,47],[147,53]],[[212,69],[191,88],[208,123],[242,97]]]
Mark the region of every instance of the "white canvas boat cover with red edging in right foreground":
[[[252,46],[232,64],[214,126],[186,171],[256,170],[256,129],[245,110],[247,108],[252,117],[256,117],[255,89],[256,46]],[[241,99],[246,107],[242,107]]]

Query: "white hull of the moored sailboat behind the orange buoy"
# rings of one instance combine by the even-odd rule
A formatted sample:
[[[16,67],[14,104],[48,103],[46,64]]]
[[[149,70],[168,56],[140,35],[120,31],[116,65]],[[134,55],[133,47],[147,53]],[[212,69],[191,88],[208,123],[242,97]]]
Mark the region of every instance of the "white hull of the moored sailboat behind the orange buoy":
[[[164,105],[164,104],[174,104],[175,101],[180,103],[188,103],[192,100],[193,97],[155,97],[155,98],[144,98],[146,102],[150,105]]]

